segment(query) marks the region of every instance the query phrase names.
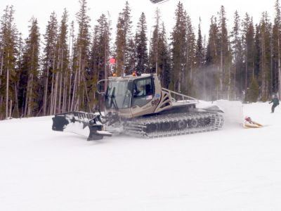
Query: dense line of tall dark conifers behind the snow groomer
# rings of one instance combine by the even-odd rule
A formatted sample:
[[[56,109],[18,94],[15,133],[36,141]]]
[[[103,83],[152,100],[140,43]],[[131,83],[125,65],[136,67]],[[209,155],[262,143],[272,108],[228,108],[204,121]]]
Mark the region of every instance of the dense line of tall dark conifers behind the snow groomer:
[[[65,9],[60,18],[51,13],[44,34],[32,18],[25,39],[14,23],[13,6],[6,6],[0,20],[0,120],[92,112],[103,106],[97,82],[112,72],[157,73],[163,87],[208,101],[253,102],[281,96],[279,0],[273,21],[264,12],[254,24],[248,13],[241,18],[236,11],[230,31],[221,6],[210,18],[207,37],[201,20],[195,32],[181,1],[170,34],[157,8],[150,37],[145,13],[133,32],[128,1],[119,13],[116,34],[110,14],[100,15],[91,27],[86,0],[79,4],[77,29]],[[110,58],[115,58],[114,66]]]

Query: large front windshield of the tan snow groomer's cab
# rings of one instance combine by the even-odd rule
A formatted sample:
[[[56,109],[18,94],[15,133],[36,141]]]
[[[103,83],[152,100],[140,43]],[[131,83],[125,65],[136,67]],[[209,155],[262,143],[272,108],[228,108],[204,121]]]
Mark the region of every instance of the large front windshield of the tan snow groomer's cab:
[[[128,89],[128,81],[109,82],[105,94],[105,107],[130,108],[131,91]]]

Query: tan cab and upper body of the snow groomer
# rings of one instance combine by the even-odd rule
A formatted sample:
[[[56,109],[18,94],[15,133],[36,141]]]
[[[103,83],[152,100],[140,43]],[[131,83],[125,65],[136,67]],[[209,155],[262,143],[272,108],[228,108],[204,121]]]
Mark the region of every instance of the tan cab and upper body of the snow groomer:
[[[106,113],[115,113],[124,118],[156,114],[173,107],[169,90],[161,87],[155,74],[110,77],[104,94]],[[195,98],[183,95],[181,98],[185,100],[185,111],[195,108]]]

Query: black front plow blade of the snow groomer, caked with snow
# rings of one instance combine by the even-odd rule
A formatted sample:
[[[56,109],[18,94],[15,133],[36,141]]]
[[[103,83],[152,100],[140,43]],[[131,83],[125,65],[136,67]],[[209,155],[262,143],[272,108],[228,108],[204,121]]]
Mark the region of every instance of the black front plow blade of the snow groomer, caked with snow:
[[[54,131],[72,132],[88,136],[88,141],[103,139],[103,136],[112,136],[103,130],[100,115],[84,112],[69,112],[56,114],[53,117]]]

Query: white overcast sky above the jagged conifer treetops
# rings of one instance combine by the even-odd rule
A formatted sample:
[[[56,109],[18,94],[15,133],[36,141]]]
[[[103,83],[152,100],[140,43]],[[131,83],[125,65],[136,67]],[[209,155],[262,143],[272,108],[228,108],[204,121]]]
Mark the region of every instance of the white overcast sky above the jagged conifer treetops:
[[[89,16],[91,17],[91,25],[96,24],[96,20],[102,13],[107,15],[110,13],[112,20],[112,27],[115,29],[117,24],[117,17],[119,12],[124,8],[126,0],[88,0]],[[128,0],[131,7],[131,15],[133,20],[133,29],[135,29],[138,18],[144,12],[148,23],[148,36],[152,25],[154,25],[154,14],[158,7],[162,14],[162,20],[166,25],[166,30],[171,31],[174,26],[174,12],[178,0],[169,0],[163,4],[152,4],[150,0]],[[202,19],[202,33],[208,34],[211,15],[216,15],[220,10],[221,5],[226,8],[226,15],[228,18],[228,30],[231,30],[233,25],[233,15],[237,10],[240,17],[244,17],[246,12],[253,16],[254,23],[258,23],[263,11],[268,11],[270,18],[273,19],[275,0],[181,0],[185,10],[190,15],[192,25],[197,34],[197,25],[199,17]],[[75,14],[79,10],[79,0],[1,0],[0,15],[6,5],[13,5],[15,8],[15,24],[18,30],[22,32],[24,37],[28,34],[29,20],[34,16],[37,18],[40,32],[44,34],[46,24],[48,22],[51,12],[55,11],[58,15],[58,21],[63,13],[63,9],[67,8],[70,14],[70,21],[76,21]],[[114,31],[113,31],[114,32]],[[113,33],[112,39],[115,39]]]

